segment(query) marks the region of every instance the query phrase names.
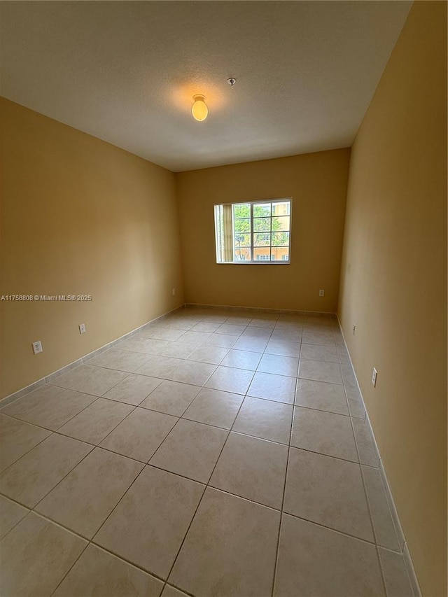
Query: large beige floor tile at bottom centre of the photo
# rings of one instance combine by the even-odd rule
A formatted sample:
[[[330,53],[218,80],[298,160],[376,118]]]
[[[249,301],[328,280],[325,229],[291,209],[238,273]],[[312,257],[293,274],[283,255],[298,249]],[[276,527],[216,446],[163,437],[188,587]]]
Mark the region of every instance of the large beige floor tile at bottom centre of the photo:
[[[279,512],[207,488],[169,581],[196,597],[269,597]]]

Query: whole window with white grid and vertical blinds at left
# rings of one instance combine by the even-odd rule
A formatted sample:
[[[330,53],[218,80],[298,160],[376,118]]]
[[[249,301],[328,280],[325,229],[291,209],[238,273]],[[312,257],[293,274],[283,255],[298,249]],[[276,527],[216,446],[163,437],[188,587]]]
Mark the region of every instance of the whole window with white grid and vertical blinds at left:
[[[217,263],[289,263],[291,199],[215,205]]]

